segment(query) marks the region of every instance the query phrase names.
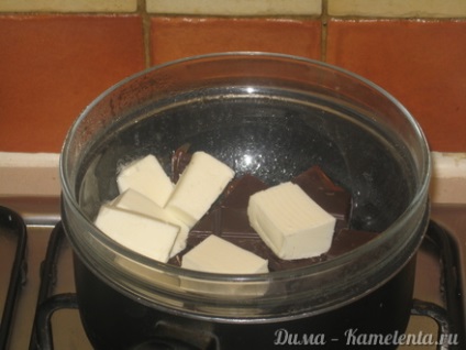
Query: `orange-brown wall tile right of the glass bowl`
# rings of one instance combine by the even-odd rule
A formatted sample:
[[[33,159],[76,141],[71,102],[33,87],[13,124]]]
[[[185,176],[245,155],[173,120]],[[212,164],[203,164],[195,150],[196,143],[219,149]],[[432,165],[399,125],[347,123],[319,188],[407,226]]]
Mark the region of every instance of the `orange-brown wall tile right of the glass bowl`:
[[[431,149],[466,152],[466,22],[329,23],[329,63],[353,70],[398,98]]]

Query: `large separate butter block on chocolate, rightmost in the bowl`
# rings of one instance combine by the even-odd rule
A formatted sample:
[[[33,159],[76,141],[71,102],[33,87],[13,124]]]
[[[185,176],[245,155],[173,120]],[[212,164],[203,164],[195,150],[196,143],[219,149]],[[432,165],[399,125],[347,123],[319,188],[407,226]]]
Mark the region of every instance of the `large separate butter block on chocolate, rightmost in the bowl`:
[[[249,225],[281,259],[317,256],[332,244],[335,218],[296,184],[284,183],[254,194],[247,215]]]

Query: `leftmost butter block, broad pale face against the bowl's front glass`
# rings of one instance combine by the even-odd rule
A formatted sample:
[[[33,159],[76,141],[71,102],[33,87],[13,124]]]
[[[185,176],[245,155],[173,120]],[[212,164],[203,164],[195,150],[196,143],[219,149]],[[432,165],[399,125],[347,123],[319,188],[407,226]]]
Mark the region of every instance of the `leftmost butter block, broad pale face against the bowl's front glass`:
[[[145,215],[103,205],[96,226],[111,239],[147,258],[167,262],[179,228]]]

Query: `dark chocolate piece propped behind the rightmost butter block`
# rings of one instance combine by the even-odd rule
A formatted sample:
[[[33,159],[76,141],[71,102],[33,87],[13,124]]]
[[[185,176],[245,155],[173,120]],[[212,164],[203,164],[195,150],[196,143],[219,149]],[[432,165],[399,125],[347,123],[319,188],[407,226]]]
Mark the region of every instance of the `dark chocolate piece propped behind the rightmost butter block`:
[[[351,194],[335,185],[320,166],[310,167],[291,182],[299,185],[309,197],[335,217],[336,232],[348,227],[352,207]]]

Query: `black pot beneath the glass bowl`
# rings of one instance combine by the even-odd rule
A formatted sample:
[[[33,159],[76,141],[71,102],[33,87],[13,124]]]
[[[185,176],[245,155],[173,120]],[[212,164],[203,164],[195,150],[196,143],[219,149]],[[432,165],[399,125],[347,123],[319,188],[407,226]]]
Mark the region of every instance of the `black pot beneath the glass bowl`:
[[[198,318],[148,306],[115,291],[75,256],[79,310],[96,349],[395,349],[412,304],[415,259],[348,305],[314,316],[258,321]],[[378,340],[368,340],[377,336]],[[308,341],[308,342],[307,342]],[[371,346],[367,344],[367,341]],[[371,341],[371,342],[370,342]]]

